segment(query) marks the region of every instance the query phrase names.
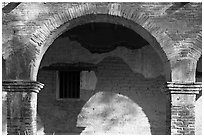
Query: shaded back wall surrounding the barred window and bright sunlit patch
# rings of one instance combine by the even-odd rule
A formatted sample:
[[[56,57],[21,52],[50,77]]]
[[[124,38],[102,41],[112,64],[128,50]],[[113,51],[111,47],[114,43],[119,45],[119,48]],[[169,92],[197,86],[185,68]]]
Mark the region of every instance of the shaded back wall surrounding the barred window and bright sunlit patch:
[[[142,108],[151,134],[166,134],[166,95],[161,90],[165,84],[163,66],[151,47],[139,50],[118,47],[110,53],[92,54],[79,43],[67,40],[60,39],[53,43],[42,60],[41,68],[57,62],[94,63],[97,65],[97,83],[95,90],[81,89],[80,100],[59,101],[56,100],[56,72],[40,70],[38,81],[45,87],[38,95],[38,114],[46,134],[80,134],[83,128],[76,127],[77,116],[85,103],[100,91],[128,97],[138,109]],[[121,125],[111,127],[121,128]]]

